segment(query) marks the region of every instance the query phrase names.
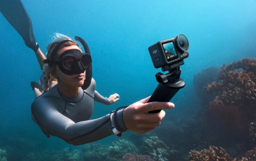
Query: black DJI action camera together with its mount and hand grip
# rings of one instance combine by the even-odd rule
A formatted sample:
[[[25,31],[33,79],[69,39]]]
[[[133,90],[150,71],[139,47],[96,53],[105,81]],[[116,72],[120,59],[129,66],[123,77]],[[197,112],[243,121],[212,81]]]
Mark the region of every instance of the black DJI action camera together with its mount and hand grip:
[[[156,73],[159,83],[148,102],[169,102],[172,97],[185,86],[185,81],[180,78],[180,65],[188,57],[188,39],[180,34],[171,39],[162,40],[148,47],[148,51],[155,68],[162,67],[162,71],[169,73]],[[157,113],[161,110],[148,111]]]

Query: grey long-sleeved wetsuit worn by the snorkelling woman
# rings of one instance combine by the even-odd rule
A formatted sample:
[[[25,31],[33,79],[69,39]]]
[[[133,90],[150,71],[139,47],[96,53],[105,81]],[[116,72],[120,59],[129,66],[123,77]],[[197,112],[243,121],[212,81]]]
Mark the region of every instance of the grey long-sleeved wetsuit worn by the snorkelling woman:
[[[94,142],[114,134],[113,128],[125,131],[123,109],[101,118],[89,120],[93,102],[109,104],[96,90],[96,82],[75,97],[60,94],[58,86],[37,97],[31,105],[32,119],[47,137],[57,136],[73,145]]]

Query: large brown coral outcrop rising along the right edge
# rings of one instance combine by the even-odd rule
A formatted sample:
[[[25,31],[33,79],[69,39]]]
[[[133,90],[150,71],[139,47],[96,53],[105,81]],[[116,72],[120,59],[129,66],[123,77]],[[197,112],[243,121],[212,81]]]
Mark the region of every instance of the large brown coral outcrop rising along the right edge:
[[[244,58],[220,69],[220,80],[206,88],[218,93],[210,103],[209,111],[233,131],[248,131],[256,120],[256,59]]]

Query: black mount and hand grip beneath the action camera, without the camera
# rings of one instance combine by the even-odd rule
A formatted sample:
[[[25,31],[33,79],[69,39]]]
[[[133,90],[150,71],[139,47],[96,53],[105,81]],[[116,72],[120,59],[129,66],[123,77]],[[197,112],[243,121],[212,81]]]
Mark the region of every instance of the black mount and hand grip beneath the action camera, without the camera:
[[[184,61],[181,60],[175,65],[168,65],[169,73],[156,73],[156,81],[159,83],[148,102],[169,102],[172,97],[185,86],[185,81],[180,78]],[[158,113],[161,110],[148,111],[148,113]]]

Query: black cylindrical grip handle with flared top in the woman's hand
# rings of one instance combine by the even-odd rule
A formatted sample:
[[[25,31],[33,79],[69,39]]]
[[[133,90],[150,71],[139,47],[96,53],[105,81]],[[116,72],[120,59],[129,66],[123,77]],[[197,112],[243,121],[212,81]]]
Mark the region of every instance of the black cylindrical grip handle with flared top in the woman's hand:
[[[159,83],[148,102],[169,102],[172,97],[185,86],[185,82],[180,79],[176,83]],[[148,111],[148,113],[158,113],[161,110]]]

